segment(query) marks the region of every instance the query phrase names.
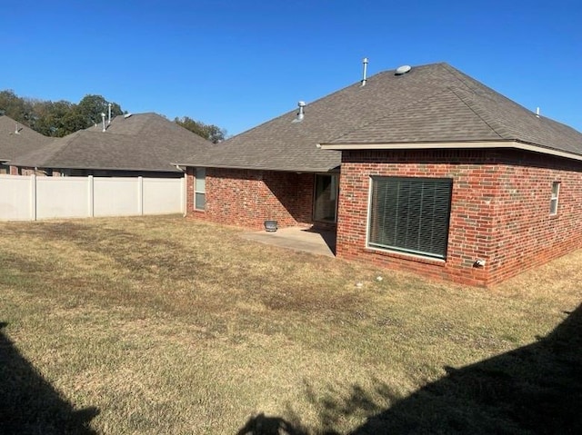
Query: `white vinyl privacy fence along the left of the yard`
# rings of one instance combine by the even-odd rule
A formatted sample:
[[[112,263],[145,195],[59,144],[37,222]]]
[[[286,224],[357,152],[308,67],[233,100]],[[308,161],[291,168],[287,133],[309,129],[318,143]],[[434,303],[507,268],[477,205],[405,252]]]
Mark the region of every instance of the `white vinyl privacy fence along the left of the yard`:
[[[185,178],[0,176],[0,221],[185,212]]]

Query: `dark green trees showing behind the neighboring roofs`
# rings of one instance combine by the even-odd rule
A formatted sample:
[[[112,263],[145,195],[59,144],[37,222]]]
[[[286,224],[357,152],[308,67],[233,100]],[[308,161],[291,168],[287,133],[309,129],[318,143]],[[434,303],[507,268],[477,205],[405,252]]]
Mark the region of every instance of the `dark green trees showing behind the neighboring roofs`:
[[[23,98],[12,90],[0,91],[0,115],[5,114],[50,137],[63,137],[101,123],[102,114],[108,115],[109,104],[112,118],[126,113],[119,104],[105,100],[102,95],[87,94],[78,103],[71,103],[65,100],[53,102]],[[188,116],[176,117],[174,122],[212,143],[222,142],[226,138],[225,129]]]

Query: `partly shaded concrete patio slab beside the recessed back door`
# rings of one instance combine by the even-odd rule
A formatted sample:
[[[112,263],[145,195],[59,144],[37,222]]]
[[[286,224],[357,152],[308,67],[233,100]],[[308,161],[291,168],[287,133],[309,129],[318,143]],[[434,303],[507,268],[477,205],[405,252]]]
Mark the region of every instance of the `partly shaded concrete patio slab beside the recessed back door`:
[[[336,232],[334,231],[292,227],[276,232],[246,232],[242,237],[246,240],[329,257],[335,257],[336,252]]]

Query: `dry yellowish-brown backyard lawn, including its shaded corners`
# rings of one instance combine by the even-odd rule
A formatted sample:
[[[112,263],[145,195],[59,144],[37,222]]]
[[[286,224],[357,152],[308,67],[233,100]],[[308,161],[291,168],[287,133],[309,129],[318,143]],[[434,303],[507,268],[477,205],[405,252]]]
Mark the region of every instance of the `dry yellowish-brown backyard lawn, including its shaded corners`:
[[[582,252],[484,290],[174,216],[0,234],[1,433],[582,429]]]

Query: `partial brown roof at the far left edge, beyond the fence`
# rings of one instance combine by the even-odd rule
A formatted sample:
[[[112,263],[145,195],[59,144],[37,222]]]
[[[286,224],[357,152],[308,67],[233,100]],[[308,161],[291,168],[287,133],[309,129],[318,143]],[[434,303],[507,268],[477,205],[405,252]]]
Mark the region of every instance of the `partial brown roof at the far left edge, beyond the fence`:
[[[51,140],[8,116],[0,115],[0,162],[40,149]]]

